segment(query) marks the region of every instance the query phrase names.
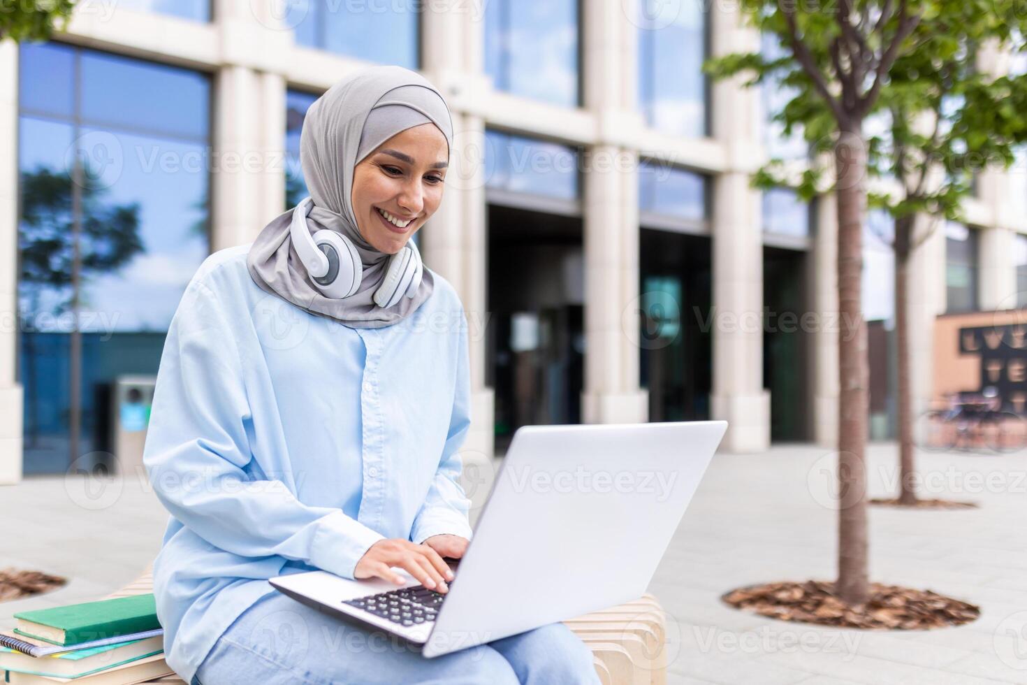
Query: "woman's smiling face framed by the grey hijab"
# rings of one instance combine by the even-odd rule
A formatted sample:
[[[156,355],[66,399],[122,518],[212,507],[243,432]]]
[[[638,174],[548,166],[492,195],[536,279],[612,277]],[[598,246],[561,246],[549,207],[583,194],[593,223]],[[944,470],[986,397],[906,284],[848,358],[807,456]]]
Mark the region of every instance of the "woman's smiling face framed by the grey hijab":
[[[433,123],[402,130],[353,168],[350,203],[364,239],[387,255],[435,213],[443,199],[449,148]]]

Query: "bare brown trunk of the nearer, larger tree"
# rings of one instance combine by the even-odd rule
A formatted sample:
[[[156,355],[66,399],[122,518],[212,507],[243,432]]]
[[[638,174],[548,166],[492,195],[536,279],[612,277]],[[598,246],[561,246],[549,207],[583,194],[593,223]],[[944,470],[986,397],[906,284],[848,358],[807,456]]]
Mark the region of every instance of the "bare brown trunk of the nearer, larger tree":
[[[863,319],[863,218],[867,193],[863,122],[840,126],[835,147],[838,195],[838,582],[839,599],[849,605],[869,597],[867,579],[867,327]]]

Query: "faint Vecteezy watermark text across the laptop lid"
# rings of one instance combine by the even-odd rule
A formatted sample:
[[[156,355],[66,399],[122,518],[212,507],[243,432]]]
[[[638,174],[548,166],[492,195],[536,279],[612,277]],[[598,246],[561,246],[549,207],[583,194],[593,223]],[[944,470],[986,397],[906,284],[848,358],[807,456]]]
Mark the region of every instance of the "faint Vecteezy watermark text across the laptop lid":
[[[631,469],[611,471],[578,464],[573,470],[541,469],[531,465],[503,468],[501,475],[509,480],[515,492],[638,494],[665,501],[674,490],[678,471]]]

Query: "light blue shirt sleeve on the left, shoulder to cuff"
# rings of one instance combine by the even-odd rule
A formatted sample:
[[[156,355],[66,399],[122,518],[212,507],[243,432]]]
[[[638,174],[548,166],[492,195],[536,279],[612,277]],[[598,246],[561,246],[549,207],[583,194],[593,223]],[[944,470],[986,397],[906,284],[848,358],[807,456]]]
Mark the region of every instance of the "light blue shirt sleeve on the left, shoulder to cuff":
[[[341,508],[300,502],[281,480],[255,478],[278,472],[274,462],[245,468],[255,458],[253,416],[229,309],[194,280],[172,319],[143,458],[154,492],[185,527],[226,551],[278,555],[352,578],[383,536]],[[282,477],[293,483],[292,473]]]

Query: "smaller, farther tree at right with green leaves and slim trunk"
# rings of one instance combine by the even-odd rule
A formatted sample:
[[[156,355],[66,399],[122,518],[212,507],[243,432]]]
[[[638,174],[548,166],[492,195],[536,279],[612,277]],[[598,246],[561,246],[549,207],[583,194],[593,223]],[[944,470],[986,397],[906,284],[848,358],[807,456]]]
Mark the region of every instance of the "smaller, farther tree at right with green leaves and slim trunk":
[[[1007,167],[1027,141],[1027,77],[999,77],[979,69],[982,49],[1022,49],[1022,16],[1014,3],[982,12],[973,4],[934,17],[914,32],[918,46],[896,61],[879,111],[884,135],[872,138],[870,173],[896,181],[893,190],[871,193],[871,206],[895,221],[895,312],[898,356],[899,503],[914,505],[913,397],[910,383],[909,265],[916,249],[943,220],[962,221],[962,202],[975,175]],[[1021,8],[1022,10],[1023,8]],[[1020,12],[1022,14],[1022,11]],[[931,219],[917,230],[916,218]]]

